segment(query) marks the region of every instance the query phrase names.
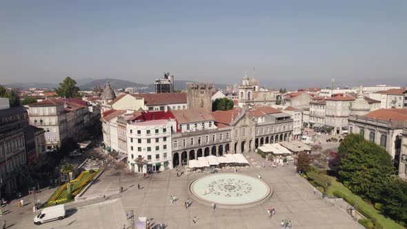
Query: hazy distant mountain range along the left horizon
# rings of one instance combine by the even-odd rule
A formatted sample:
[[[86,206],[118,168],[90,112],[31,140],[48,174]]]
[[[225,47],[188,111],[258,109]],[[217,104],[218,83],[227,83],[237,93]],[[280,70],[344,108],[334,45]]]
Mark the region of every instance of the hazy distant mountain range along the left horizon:
[[[106,84],[107,79],[92,79],[92,78],[81,78],[75,79],[77,81],[77,86],[80,90],[93,90],[93,88],[100,86],[103,88]],[[186,83],[195,81],[186,80],[176,80],[174,82],[174,90],[186,90]],[[122,79],[109,79],[110,87],[112,89],[119,88],[137,88],[137,92],[154,92],[154,83],[143,84],[134,83],[131,81],[126,81]],[[9,83],[5,85],[8,88],[57,88],[59,85],[57,83]],[[226,88],[224,84],[215,84],[218,89]]]

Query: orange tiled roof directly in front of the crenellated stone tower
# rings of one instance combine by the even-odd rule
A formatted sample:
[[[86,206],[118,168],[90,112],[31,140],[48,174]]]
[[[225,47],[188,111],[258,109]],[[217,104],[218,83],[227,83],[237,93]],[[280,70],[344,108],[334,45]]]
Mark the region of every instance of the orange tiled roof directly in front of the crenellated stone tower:
[[[171,110],[178,123],[194,123],[199,121],[214,121],[214,117],[206,109]]]

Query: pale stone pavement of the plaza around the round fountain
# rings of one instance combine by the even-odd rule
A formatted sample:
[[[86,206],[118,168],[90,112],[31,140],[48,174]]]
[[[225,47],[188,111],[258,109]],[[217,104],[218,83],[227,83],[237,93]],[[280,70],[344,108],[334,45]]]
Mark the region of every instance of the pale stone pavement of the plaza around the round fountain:
[[[250,153],[250,157],[261,164],[261,157]],[[257,177],[270,183],[274,193],[268,203],[252,208],[212,210],[199,203],[185,209],[183,203],[188,198],[188,184],[208,173],[192,173],[177,177],[177,170],[167,170],[146,179],[133,175],[122,175],[121,186],[125,189],[118,199],[109,199],[93,206],[81,207],[77,212],[69,212],[61,221],[45,223],[38,228],[123,228],[126,212],[134,210],[135,217],[149,217],[154,225],[163,223],[166,228],[280,228],[281,219],[292,222],[292,228],[361,228],[353,219],[328,201],[314,195],[312,186],[295,174],[290,166],[272,168],[241,169],[238,172]],[[140,183],[142,189],[137,190]],[[92,190],[95,188],[94,190]],[[95,186],[88,190],[90,195],[105,190],[119,188],[119,179],[106,171]],[[170,203],[170,195],[178,200]],[[190,198],[190,200],[192,200]],[[268,206],[273,206],[276,215],[267,217]],[[11,213],[10,213],[11,214]],[[19,224],[10,228],[32,228],[34,213],[25,214]],[[197,218],[197,223],[192,219]],[[129,222],[126,226],[129,226]]]

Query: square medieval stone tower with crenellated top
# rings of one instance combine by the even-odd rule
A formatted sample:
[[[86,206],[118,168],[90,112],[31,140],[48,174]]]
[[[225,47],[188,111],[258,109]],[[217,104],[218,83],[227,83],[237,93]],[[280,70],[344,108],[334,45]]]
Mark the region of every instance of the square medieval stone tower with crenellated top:
[[[215,83],[186,83],[188,109],[207,109],[212,111],[212,95]]]

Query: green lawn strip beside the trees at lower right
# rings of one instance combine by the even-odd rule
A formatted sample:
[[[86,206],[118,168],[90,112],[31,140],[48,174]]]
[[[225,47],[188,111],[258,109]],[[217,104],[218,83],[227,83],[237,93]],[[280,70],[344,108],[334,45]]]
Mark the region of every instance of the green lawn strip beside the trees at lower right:
[[[329,176],[330,177],[330,176]],[[326,195],[333,197],[333,192],[339,191],[344,193],[345,195],[348,195],[348,197],[355,199],[358,201],[358,208],[363,210],[364,212],[370,213],[379,223],[383,228],[385,229],[395,229],[395,228],[400,228],[403,229],[404,227],[396,223],[390,218],[386,218],[383,215],[381,215],[381,212],[379,210],[376,210],[373,208],[373,206],[370,206],[366,201],[361,199],[359,196],[353,194],[346,188],[341,182],[337,181],[335,177],[330,177],[331,179],[331,185],[328,187],[328,190],[326,191]]]

